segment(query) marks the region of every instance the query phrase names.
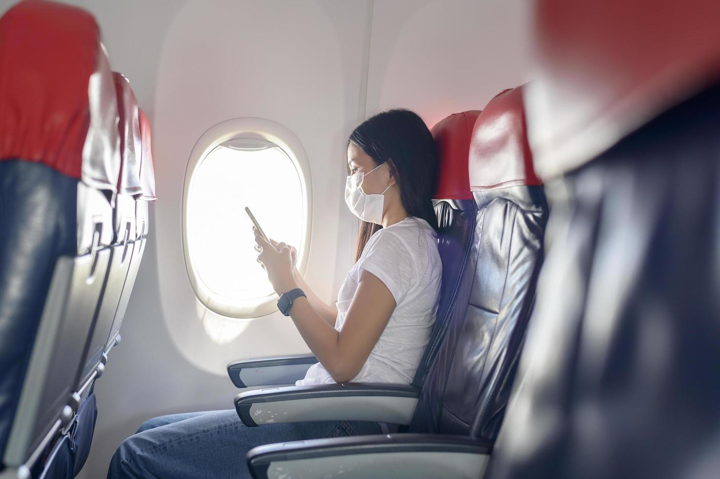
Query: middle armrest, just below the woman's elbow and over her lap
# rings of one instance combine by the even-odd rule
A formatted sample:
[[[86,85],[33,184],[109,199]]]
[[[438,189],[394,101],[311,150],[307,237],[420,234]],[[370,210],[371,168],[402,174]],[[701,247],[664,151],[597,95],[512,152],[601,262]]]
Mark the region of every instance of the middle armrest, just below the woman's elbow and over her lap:
[[[410,424],[420,389],[406,384],[345,382],[256,389],[235,396],[246,426],[302,421]]]

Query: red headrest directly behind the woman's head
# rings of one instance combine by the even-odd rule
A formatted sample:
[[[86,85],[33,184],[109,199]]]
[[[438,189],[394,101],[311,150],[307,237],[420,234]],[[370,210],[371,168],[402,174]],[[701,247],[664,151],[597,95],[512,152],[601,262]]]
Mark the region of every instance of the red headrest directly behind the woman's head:
[[[472,126],[480,110],[453,113],[440,120],[431,133],[438,146],[438,188],[436,200],[472,200],[467,177],[467,156]]]

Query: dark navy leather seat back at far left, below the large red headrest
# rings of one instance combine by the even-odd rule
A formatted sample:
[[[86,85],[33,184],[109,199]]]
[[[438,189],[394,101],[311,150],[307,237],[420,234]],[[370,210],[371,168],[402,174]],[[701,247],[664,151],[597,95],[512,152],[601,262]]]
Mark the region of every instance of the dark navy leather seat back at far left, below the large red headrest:
[[[76,251],[76,200],[76,179],[40,163],[0,161],[0,452],[40,323],[39,297],[55,260]]]

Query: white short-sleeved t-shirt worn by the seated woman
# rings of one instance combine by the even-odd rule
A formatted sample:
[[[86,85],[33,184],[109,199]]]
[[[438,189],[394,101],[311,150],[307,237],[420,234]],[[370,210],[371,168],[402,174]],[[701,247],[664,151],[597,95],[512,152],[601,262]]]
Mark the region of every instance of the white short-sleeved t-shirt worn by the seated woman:
[[[442,264],[437,234],[426,220],[408,217],[370,237],[360,259],[348,272],[338,292],[338,318],[345,316],[363,270],[377,276],[395,298],[380,339],[352,382],[410,384],[435,323]],[[335,382],[319,362],[296,385]]]

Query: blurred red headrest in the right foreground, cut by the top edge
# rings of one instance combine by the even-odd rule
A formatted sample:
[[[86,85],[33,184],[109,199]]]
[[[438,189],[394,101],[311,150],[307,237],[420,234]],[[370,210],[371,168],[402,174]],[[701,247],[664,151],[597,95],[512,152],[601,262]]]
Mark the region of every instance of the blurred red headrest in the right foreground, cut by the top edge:
[[[720,1],[538,0],[530,143],[544,179],[720,81]]]

